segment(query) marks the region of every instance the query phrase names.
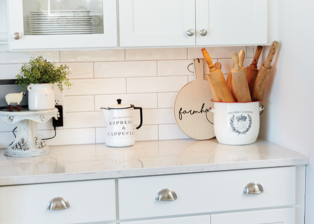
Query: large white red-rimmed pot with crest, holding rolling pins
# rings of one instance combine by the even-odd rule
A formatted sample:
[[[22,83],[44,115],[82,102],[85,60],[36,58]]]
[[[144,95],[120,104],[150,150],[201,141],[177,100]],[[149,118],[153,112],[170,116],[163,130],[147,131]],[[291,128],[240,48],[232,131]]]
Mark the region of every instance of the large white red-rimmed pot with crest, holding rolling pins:
[[[213,100],[212,100],[213,101]],[[252,144],[260,131],[260,101],[214,102],[214,130],[219,143]]]

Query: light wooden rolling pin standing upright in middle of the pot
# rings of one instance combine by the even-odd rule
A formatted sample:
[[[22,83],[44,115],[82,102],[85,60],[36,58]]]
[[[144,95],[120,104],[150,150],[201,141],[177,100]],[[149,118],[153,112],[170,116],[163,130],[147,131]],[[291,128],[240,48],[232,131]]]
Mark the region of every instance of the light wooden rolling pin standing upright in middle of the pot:
[[[247,81],[247,71],[239,65],[239,56],[236,51],[232,52],[232,60],[235,64],[232,68],[232,93],[238,102],[250,102],[251,94]]]

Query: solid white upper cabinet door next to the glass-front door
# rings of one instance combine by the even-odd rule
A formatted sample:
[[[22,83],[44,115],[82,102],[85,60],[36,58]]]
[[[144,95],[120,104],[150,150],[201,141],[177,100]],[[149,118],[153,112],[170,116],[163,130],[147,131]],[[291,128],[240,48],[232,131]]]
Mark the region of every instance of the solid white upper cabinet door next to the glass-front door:
[[[195,45],[194,0],[119,0],[120,46]]]

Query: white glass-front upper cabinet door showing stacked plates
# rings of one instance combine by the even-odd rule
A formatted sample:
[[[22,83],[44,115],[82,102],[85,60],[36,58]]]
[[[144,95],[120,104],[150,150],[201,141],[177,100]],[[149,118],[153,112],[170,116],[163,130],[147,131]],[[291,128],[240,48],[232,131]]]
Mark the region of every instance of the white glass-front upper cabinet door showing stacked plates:
[[[7,0],[9,49],[117,46],[116,0]]]

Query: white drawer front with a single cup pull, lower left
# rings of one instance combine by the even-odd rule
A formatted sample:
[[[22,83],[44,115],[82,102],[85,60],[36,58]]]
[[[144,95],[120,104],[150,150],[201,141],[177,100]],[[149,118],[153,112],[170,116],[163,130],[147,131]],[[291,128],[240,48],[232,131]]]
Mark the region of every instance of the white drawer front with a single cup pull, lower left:
[[[67,209],[48,210],[54,197],[66,198]],[[113,179],[0,187],[0,223],[82,223],[115,220]]]

